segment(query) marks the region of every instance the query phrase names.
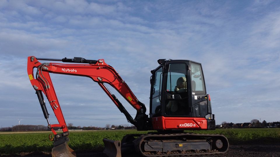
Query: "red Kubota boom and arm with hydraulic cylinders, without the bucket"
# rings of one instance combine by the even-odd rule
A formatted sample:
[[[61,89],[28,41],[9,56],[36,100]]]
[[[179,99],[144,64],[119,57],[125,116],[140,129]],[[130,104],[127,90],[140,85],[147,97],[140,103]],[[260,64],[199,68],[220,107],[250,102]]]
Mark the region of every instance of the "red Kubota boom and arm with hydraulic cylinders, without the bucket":
[[[40,63],[38,60],[55,60],[62,62],[72,63],[87,63],[87,64],[63,64],[63,63]],[[34,77],[33,69],[37,68],[36,75]],[[61,108],[60,103],[55,94],[55,89],[50,78],[49,73],[54,74],[65,74],[75,76],[85,76],[91,78],[97,82],[100,87],[106,92],[113,103],[118,109],[125,114],[127,121],[134,124],[139,130],[149,129],[149,119],[146,115],[146,107],[141,103],[133,92],[129,89],[128,85],[123,81],[120,75],[115,71],[113,67],[107,65],[103,59],[99,60],[86,60],[84,58],[75,57],[74,59],[46,59],[46,58],[35,58],[34,56],[28,57],[27,72],[29,75],[30,82],[33,88],[36,90],[36,94],[40,101],[43,113],[48,122],[48,127],[56,135],[57,133],[53,129],[54,127],[61,127],[63,132],[68,132]],[[127,102],[132,105],[137,113],[133,119],[127,110],[122,106],[120,101],[112,94],[104,83],[108,83],[115,88],[124,97]],[[43,99],[42,92],[46,95],[55,116],[59,124],[50,124],[48,120],[48,111],[46,110],[45,102]],[[143,118],[146,117],[146,118]],[[145,119],[145,120],[143,120]]]

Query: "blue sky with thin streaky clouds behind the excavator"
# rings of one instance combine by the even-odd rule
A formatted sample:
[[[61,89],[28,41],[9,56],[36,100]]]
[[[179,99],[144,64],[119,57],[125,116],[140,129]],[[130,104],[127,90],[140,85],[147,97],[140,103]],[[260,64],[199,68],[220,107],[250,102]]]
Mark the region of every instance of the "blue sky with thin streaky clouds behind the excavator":
[[[193,60],[202,63],[216,124],[279,121],[279,45],[279,1],[2,0],[0,126],[17,118],[47,125],[27,75],[28,56],[102,58],[146,106],[158,59]],[[66,123],[128,124],[89,78],[51,77]]]

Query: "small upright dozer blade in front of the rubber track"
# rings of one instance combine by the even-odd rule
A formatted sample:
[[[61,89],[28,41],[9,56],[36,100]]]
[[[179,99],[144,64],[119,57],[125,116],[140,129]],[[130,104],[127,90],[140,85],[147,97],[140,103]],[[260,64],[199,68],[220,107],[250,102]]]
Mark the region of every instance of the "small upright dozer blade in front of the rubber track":
[[[121,157],[120,143],[121,141],[108,140],[107,138],[103,139],[105,148],[103,153],[108,157]]]

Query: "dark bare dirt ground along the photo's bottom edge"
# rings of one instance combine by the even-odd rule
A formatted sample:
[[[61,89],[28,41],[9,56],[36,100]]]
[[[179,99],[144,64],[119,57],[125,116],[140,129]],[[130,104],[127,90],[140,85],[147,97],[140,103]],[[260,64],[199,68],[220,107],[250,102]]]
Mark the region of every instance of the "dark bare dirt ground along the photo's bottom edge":
[[[22,153],[19,156],[24,157],[51,157],[51,154],[47,153]],[[280,157],[280,145],[255,145],[255,146],[233,146],[229,147],[229,150],[225,154],[220,155],[207,155],[196,157]],[[4,157],[4,156],[1,156]],[[9,156],[12,157],[12,156]],[[18,156],[17,156],[18,157]],[[102,152],[77,152],[77,157],[107,157]],[[126,154],[123,157],[140,157],[136,154]]]

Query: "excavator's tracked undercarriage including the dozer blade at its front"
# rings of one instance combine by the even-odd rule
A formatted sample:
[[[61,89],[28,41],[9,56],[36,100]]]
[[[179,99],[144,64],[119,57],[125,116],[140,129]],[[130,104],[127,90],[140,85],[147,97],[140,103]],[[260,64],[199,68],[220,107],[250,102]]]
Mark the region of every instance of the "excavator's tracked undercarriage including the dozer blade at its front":
[[[120,141],[110,141],[104,141],[104,153],[109,157],[120,157],[120,154],[132,150],[147,157],[223,154],[229,146],[227,138],[223,135],[194,133],[129,134],[122,139],[121,144]],[[114,146],[115,151],[112,151]]]

